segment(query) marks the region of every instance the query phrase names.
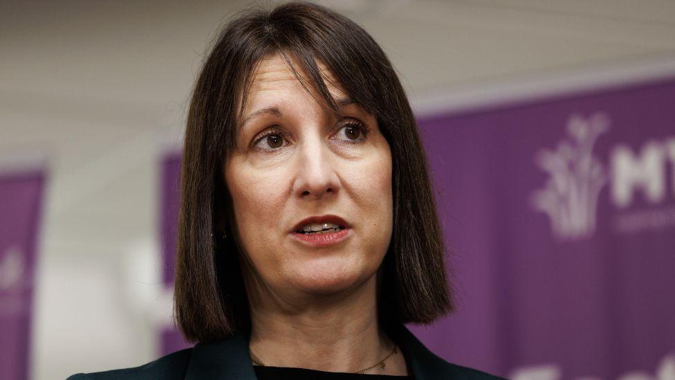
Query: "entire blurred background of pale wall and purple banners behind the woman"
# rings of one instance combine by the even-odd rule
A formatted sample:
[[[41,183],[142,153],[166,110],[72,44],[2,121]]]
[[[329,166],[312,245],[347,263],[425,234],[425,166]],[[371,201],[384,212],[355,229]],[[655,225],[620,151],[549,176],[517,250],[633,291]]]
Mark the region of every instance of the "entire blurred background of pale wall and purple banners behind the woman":
[[[167,350],[166,208],[189,91],[212,38],[250,3],[0,3],[2,379]],[[320,3],[396,66],[445,228],[459,231],[446,234],[458,314],[416,333],[502,376],[675,379],[675,2]],[[532,235],[540,251],[522,246]],[[519,282],[528,271],[540,278]],[[456,326],[473,330],[459,339]]]

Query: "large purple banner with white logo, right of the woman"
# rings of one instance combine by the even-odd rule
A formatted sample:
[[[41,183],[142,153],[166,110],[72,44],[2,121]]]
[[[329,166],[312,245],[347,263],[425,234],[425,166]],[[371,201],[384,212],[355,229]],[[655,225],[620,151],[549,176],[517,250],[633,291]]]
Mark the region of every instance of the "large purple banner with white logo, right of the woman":
[[[512,379],[675,379],[675,81],[420,121],[459,309]]]

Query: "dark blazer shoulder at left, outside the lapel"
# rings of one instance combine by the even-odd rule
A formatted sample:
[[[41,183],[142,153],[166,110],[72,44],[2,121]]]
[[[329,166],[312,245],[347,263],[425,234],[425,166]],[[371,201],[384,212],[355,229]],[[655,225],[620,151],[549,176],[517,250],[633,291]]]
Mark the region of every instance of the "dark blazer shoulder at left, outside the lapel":
[[[145,380],[145,379],[183,379],[187,371],[192,348],[176,351],[162,356],[145,365],[122,370],[94,372],[90,374],[73,374],[66,380]]]

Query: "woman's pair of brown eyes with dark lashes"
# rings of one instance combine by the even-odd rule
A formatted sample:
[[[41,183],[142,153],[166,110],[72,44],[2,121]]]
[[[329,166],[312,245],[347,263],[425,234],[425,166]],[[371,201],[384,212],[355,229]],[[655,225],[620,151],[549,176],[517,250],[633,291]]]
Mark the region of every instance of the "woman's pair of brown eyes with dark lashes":
[[[370,129],[360,120],[349,120],[342,123],[338,131],[333,134],[330,139],[340,145],[342,144],[360,144],[367,140]],[[339,136],[344,136],[340,138]],[[264,132],[256,136],[253,140],[253,147],[256,150],[274,153],[286,145],[290,145],[290,135],[281,130],[276,125],[266,129]]]

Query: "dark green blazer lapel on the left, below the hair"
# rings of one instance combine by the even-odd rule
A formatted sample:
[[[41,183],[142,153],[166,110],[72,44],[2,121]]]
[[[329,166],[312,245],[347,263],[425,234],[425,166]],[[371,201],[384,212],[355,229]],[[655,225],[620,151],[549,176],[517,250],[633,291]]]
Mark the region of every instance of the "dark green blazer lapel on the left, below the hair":
[[[245,336],[237,333],[224,341],[194,346],[185,380],[205,379],[256,380]]]

